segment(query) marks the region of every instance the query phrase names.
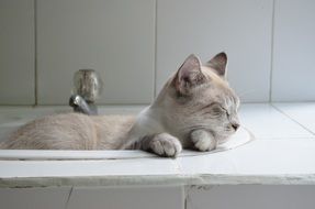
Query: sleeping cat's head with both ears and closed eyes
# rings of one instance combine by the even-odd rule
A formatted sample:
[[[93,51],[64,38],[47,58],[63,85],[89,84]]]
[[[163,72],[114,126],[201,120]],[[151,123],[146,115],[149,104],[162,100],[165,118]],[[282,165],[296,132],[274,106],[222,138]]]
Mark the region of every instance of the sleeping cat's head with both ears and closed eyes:
[[[225,53],[205,65],[190,55],[168,80],[156,103],[162,107],[164,123],[172,134],[182,138],[204,129],[221,143],[235,133],[239,127],[239,99],[228,86],[226,66]]]

